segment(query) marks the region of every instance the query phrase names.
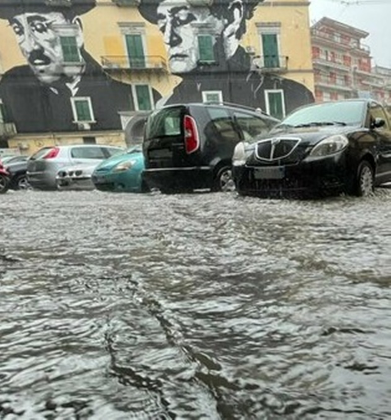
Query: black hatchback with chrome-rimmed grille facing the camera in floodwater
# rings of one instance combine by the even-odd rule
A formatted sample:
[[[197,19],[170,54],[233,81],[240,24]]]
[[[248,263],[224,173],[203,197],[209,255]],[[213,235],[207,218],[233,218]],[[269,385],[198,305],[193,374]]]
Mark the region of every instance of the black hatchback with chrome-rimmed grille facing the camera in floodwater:
[[[391,181],[388,114],[367,99],[308,105],[237,144],[232,164],[241,195],[369,195]]]

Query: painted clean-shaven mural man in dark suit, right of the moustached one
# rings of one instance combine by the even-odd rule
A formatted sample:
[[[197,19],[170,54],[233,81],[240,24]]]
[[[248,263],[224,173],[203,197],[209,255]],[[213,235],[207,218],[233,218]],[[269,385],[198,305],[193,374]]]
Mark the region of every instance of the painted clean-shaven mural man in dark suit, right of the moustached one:
[[[312,92],[304,85],[251,71],[251,58],[240,39],[258,1],[263,0],[141,0],[141,15],[163,34],[171,72],[182,77],[164,103],[200,102],[203,91],[219,91],[226,102],[265,110],[268,89],[284,92],[287,112],[313,102]],[[205,33],[213,35],[211,63],[198,59],[198,36]]]

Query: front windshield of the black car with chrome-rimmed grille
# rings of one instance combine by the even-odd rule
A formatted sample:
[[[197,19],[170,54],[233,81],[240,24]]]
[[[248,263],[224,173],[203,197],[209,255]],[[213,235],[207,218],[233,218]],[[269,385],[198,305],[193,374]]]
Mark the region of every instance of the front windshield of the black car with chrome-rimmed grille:
[[[274,130],[286,127],[322,125],[361,125],[365,115],[365,102],[325,102],[300,108],[288,115]]]

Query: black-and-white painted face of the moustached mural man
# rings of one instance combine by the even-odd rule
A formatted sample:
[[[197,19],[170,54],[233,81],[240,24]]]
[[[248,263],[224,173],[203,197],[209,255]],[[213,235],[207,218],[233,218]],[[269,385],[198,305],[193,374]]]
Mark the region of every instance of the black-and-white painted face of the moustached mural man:
[[[77,19],[75,22],[78,23]],[[50,84],[74,68],[64,66],[63,51],[60,36],[55,30],[56,25],[66,25],[70,22],[60,12],[21,13],[10,18],[10,25],[16,34],[16,40],[22,54],[27,60],[35,76],[42,83]],[[76,37],[78,47],[83,45],[81,26],[78,24]]]

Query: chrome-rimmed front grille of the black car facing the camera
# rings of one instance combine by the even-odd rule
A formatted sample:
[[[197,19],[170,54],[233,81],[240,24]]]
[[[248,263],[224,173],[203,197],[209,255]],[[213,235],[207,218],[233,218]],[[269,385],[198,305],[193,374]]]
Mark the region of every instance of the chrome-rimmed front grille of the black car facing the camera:
[[[255,145],[255,157],[268,162],[284,159],[296,149],[300,140],[298,137],[272,137],[261,140]]]

